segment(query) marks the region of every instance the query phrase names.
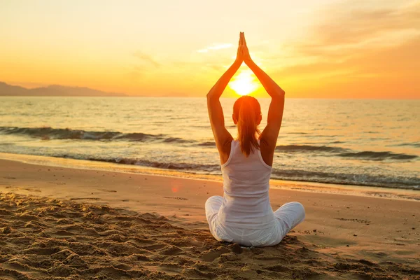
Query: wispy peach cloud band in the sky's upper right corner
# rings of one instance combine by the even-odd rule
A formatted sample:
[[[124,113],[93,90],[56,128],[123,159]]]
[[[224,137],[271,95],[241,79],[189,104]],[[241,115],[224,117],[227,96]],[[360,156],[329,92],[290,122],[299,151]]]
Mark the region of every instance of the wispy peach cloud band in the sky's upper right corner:
[[[420,36],[420,1],[388,8],[333,5],[311,29],[310,43],[294,45],[302,55],[334,55],[365,48],[391,47]]]

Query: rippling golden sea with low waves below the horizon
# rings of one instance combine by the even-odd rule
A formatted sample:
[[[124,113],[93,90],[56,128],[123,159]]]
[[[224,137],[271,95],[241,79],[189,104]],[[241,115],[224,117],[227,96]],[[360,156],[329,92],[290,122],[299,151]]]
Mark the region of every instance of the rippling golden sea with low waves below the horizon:
[[[0,153],[221,175],[205,97],[0,97]],[[272,179],[420,190],[420,100],[286,99]]]

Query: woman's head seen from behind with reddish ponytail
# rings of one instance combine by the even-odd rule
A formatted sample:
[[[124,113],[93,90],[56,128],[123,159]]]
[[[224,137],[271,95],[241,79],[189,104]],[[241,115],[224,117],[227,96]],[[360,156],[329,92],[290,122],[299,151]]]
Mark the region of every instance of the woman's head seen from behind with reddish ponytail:
[[[233,105],[233,123],[238,127],[238,140],[241,151],[248,155],[259,149],[257,135],[260,134],[258,125],[261,123],[261,107],[254,97],[240,97]]]

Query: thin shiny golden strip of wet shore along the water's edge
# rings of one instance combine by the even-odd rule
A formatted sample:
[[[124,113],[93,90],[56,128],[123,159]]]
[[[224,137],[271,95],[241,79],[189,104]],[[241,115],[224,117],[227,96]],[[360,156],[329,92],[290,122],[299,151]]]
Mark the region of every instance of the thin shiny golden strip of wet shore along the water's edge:
[[[135,165],[121,165],[112,162],[97,162],[91,160],[76,160],[71,158],[55,158],[41,155],[22,155],[13,153],[0,153],[0,160],[22,162],[30,165],[43,165],[49,167],[63,167],[73,169],[86,169],[96,171],[121,172],[126,174],[143,174],[151,176],[166,176],[180,179],[193,179],[203,181],[222,182],[221,175],[197,174],[180,172],[171,169],[159,169]],[[330,193],[341,195],[358,195],[367,197],[381,197],[395,200],[420,201],[420,189],[386,188],[377,186],[356,186],[335,183],[317,183],[308,181],[270,180],[270,188],[306,191],[313,193]]]

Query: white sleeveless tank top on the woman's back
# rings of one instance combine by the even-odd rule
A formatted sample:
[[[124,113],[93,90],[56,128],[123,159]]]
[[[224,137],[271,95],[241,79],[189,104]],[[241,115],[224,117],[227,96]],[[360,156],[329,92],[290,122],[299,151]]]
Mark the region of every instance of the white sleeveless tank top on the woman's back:
[[[248,158],[233,140],[228,161],[222,165],[223,203],[218,213],[222,225],[234,228],[262,229],[274,224],[269,204],[269,177],[272,167],[262,160],[260,150]]]

